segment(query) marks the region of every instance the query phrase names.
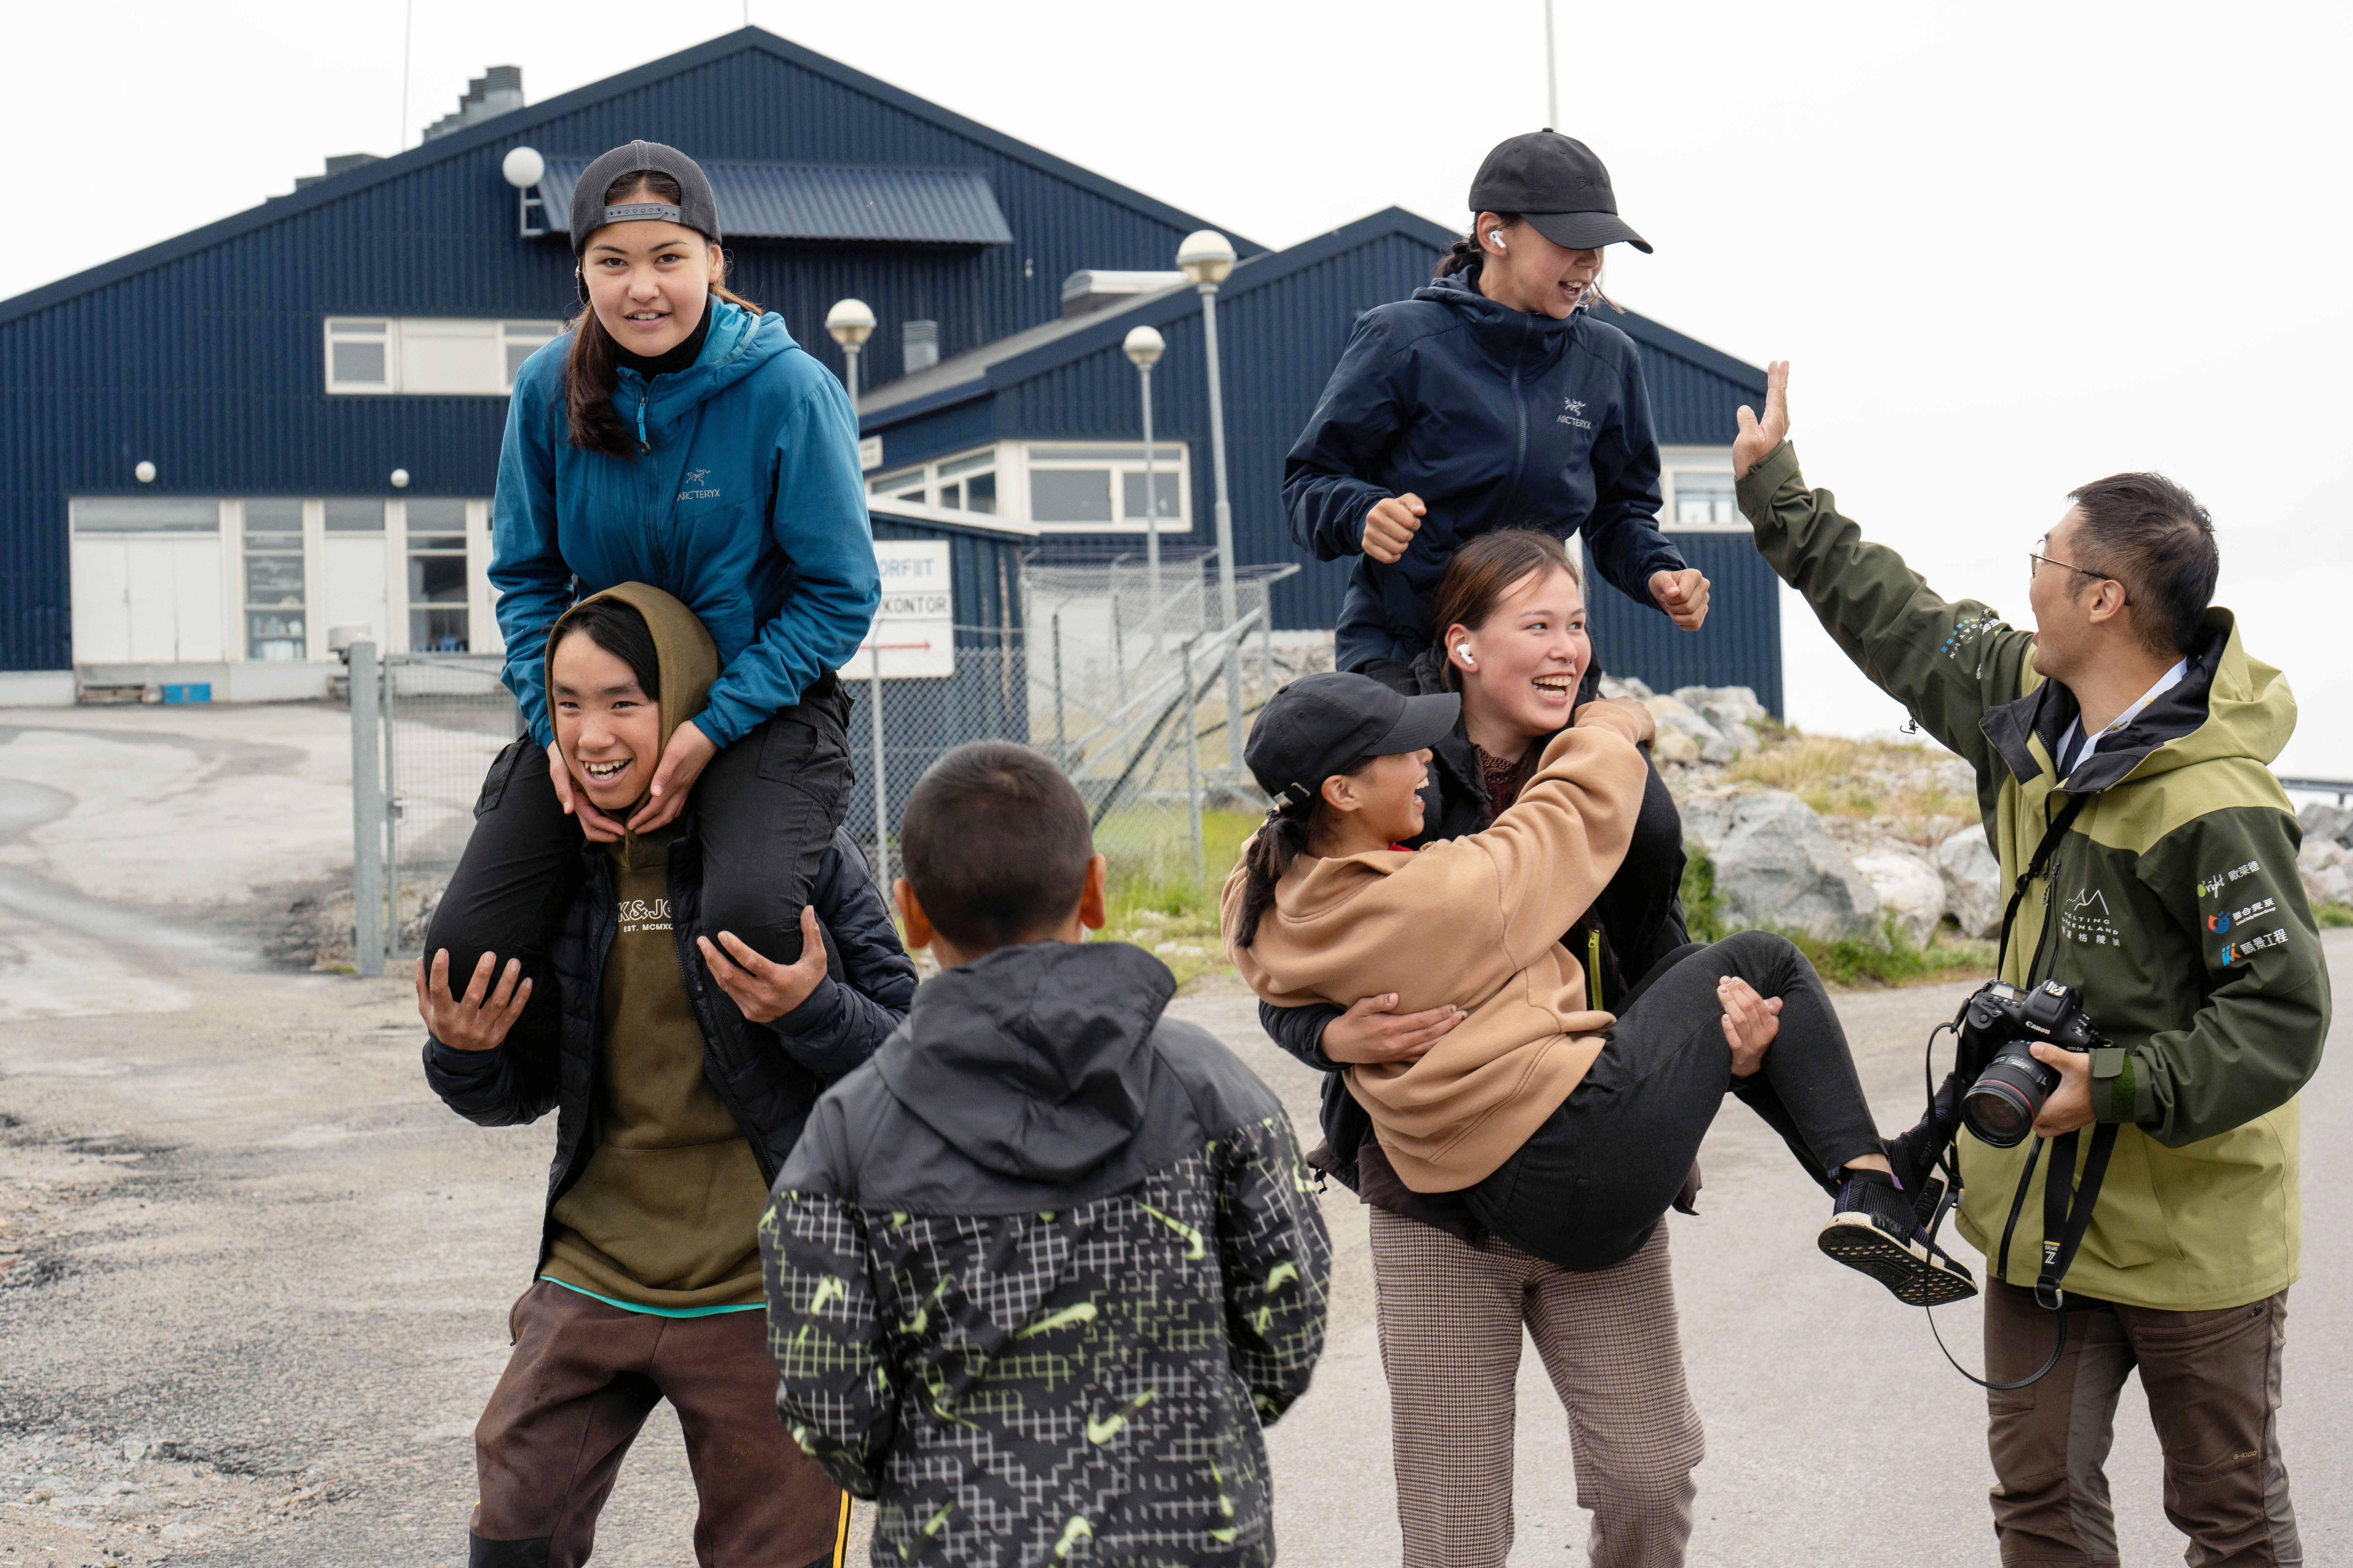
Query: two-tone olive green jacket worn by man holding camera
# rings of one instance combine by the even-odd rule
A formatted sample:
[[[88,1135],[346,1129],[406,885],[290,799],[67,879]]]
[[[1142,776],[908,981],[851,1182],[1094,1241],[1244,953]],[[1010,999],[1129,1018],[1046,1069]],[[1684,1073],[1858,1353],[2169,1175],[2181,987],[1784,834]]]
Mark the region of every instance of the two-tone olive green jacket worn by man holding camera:
[[[2247,656],[2231,611],[2209,609],[2181,684],[2061,780],[2052,757],[2078,708],[2035,675],[2033,632],[1939,599],[1901,555],[1866,543],[1831,491],[1805,487],[1788,442],[1739,498],[1765,559],[1847,658],[1977,771],[2005,884],[2066,802],[2087,797],[2019,905],[2002,969],[2012,985],[2075,985],[2113,1041],[2092,1053],[2092,1107],[2120,1133],[2066,1288],[2179,1312],[2287,1288],[2297,1091],[2329,1030],[2301,832],[2271,776],[2297,726],[2287,677]],[[1960,1232],[1988,1258],[2028,1147],[1960,1135]],[[2087,1159],[2089,1138],[2078,1147]],[[2040,1255],[2042,1168],[2009,1284],[2033,1286]]]

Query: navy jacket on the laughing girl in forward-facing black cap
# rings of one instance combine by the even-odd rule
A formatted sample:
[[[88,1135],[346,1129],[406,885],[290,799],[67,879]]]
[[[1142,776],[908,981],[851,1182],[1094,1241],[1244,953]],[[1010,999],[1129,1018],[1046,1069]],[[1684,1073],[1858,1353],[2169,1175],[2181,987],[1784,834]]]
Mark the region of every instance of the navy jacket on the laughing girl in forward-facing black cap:
[[[1555,322],[1499,306],[1473,277],[1360,315],[1282,463],[1292,538],[1322,562],[1358,557],[1341,670],[1431,646],[1438,578],[1489,529],[1584,534],[1593,567],[1652,609],[1649,576],[1682,569],[1657,522],[1659,440],[1633,339],[1591,310]],[[1414,543],[1395,564],[1362,555],[1365,512],[1407,491],[1428,505]]]

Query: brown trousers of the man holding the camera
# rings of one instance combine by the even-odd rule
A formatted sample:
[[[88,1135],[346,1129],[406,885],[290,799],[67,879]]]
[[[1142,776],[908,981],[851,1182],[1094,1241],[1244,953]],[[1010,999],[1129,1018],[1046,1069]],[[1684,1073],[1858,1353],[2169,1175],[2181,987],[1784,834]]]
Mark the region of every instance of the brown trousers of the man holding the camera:
[[[2191,1537],[2191,1568],[2301,1563],[2278,1422],[2287,1291],[2219,1312],[2073,1298],[2066,1319],[2066,1354],[2047,1378],[1986,1394],[2002,1566],[2118,1561],[2104,1465],[2115,1399],[2134,1368],[2165,1448],[2165,1516]],[[1993,1382],[2033,1375],[2054,1338],[2033,1291],[1986,1281]]]

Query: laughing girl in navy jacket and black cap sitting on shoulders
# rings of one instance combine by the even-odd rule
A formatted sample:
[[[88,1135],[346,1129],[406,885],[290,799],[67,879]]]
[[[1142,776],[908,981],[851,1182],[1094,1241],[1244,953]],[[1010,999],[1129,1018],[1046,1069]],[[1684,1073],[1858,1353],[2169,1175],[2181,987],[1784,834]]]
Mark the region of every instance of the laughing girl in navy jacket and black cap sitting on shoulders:
[[[1649,249],[1617,216],[1586,143],[1544,129],[1487,153],[1473,230],[1409,301],[1358,317],[1282,465],[1292,538],[1355,555],[1341,670],[1431,646],[1431,599],[1461,541],[1489,529],[1584,534],[1593,569],[1675,625],[1708,578],[1659,531],[1659,440],[1633,339],[1593,317],[1602,247]]]

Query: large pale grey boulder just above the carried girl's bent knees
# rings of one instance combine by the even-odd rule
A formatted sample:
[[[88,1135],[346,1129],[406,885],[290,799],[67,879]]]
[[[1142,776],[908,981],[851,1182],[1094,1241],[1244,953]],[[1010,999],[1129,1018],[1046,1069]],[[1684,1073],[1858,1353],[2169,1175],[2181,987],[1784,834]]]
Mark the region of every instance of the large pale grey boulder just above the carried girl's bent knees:
[[[1880,896],[1788,790],[1704,790],[1682,802],[1682,832],[1715,863],[1727,926],[1880,936]]]

